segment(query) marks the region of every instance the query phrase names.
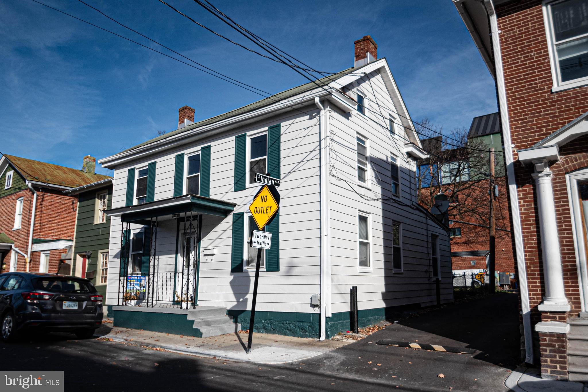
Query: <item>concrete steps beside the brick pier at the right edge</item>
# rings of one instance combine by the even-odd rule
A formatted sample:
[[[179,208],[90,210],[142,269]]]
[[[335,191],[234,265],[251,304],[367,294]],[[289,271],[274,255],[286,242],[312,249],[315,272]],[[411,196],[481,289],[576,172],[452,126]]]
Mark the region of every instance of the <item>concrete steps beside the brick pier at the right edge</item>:
[[[588,313],[567,320],[567,361],[570,381],[588,383]]]

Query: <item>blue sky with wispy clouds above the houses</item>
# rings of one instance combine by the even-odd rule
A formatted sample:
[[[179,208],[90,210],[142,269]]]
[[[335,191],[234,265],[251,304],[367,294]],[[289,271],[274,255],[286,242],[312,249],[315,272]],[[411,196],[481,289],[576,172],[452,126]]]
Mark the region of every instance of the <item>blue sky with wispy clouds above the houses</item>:
[[[76,0],[40,0],[157,46]],[[170,48],[268,92],[306,82],[285,65],[249,53],[157,0],[85,0]],[[247,46],[190,0],[170,4]],[[495,112],[494,83],[450,0],[220,1],[236,22],[315,69],[353,65],[353,41],[371,35],[413,120],[450,130]],[[161,49],[161,48],[158,48]],[[165,49],[162,49],[165,51]],[[177,128],[178,108],[209,118],[260,99],[30,0],[0,2],[1,152],[81,167]],[[106,173],[97,168],[97,172]]]

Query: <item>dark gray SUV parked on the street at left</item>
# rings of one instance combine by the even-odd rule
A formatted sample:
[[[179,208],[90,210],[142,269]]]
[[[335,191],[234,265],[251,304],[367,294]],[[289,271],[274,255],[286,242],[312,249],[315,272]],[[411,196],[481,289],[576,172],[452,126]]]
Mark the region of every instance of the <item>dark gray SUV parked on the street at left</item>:
[[[27,331],[71,331],[89,339],[102,324],[102,296],[88,279],[48,273],[0,274],[0,339]]]

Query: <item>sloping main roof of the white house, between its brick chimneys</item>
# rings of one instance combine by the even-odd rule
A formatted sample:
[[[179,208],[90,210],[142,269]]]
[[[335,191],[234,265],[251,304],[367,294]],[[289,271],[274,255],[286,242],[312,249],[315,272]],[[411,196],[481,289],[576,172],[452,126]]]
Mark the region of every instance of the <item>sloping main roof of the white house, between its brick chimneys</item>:
[[[345,70],[338,72],[338,73],[335,73],[333,75],[326,76],[325,78],[318,79],[318,81],[316,81],[316,82],[308,82],[303,85],[288,89],[286,91],[279,92],[277,94],[270,96],[269,98],[264,98],[262,100],[258,100],[257,102],[253,102],[253,103],[250,103],[249,105],[242,106],[241,108],[231,110],[230,112],[222,113],[218,116],[211,117],[209,119],[193,123],[193,124],[185,126],[183,128],[173,130],[172,132],[165,133],[165,135],[161,135],[161,136],[158,136],[157,138],[147,140],[146,142],[143,142],[139,145],[133,146],[133,147],[126,149],[122,152],[132,151],[134,149],[151,144],[151,143],[156,142],[158,140],[163,140],[163,139],[169,138],[170,136],[178,135],[179,133],[188,132],[189,130],[192,130],[194,128],[199,128],[201,126],[209,125],[209,124],[218,122],[218,121],[226,119],[226,118],[238,116],[240,114],[247,113],[247,112],[250,112],[255,109],[263,108],[263,106],[268,106],[268,105],[271,105],[272,103],[279,102],[282,99],[287,99],[292,96],[298,95],[300,93],[317,88],[318,87],[317,85],[320,85],[320,86],[328,85],[330,82],[336,81],[337,79],[342,78],[345,75],[349,75],[349,73],[358,71],[359,69],[362,69],[364,66],[367,66],[367,65],[369,65],[369,63],[366,65],[360,66],[359,68],[351,67],[351,68],[345,69]],[[286,105],[287,105],[287,103],[286,103]]]

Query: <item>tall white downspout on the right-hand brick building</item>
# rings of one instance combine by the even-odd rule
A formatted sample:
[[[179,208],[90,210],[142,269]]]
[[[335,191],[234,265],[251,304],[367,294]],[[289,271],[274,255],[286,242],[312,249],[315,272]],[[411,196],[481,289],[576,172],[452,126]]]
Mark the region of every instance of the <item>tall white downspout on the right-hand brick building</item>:
[[[517,270],[519,273],[520,303],[523,316],[525,362],[533,363],[533,339],[531,330],[531,309],[529,304],[529,286],[527,284],[527,270],[524,260],[523,232],[520,225],[519,195],[516,189],[515,164],[513,163],[513,145],[510,139],[509,110],[506,105],[505,75],[502,69],[502,52],[500,52],[500,36],[498,20],[492,0],[485,0],[486,9],[490,16],[490,29],[494,61],[496,65],[496,85],[500,105],[500,121],[502,123],[502,135],[505,142],[506,175],[509,185],[510,213],[513,219],[513,232],[515,233],[515,247],[517,257]]]

